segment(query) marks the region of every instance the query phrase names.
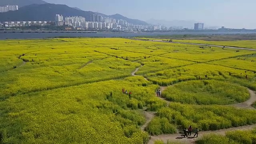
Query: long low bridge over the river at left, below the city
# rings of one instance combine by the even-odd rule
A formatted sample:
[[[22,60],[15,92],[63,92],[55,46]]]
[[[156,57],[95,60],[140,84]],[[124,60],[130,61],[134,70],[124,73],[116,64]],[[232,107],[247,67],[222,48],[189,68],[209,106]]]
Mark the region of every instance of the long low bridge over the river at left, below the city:
[[[58,30],[0,30],[0,33],[89,33],[89,34],[96,34],[97,32],[58,31]]]

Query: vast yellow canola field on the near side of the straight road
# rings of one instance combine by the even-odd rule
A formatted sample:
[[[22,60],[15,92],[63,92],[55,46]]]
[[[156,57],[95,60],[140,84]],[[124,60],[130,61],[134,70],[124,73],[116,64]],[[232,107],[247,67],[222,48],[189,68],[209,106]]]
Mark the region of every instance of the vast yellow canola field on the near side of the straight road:
[[[150,134],[175,133],[181,125],[215,130],[256,123],[253,110],[221,106],[244,102],[247,88],[256,90],[252,51],[123,38],[2,40],[0,46],[0,143],[146,144]],[[155,92],[176,83],[202,92],[185,101],[183,91],[172,96],[168,88],[169,100],[186,103],[168,107]],[[230,114],[222,115],[226,109]],[[154,112],[144,125],[144,114]]]

